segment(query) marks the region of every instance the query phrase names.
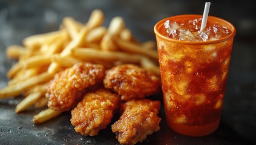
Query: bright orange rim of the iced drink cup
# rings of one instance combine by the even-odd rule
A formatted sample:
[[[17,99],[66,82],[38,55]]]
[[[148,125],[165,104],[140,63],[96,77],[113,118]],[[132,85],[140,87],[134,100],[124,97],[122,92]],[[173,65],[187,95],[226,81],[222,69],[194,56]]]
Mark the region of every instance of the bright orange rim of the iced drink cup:
[[[176,15],[176,16],[170,16],[168,18],[162,19],[159,22],[157,22],[157,24],[154,26],[154,33],[161,37],[162,39],[168,40],[170,42],[174,42],[174,43],[181,43],[181,44],[186,44],[186,45],[207,45],[207,44],[213,44],[213,43],[220,43],[220,42],[224,42],[226,40],[232,39],[232,37],[235,36],[236,30],[233,24],[231,24],[231,22],[226,21],[225,19],[222,18],[218,18],[215,16],[208,16],[208,19],[212,19],[219,22],[222,22],[222,24],[226,24],[229,26],[229,30],[231,30],[231,34],[229,34],[226,37],[222,37],[221,39],[217,39],[217,40],[209,40],[209,41],[199,41],[199,42],[192,42],[192,41],[183,41],[183,40],[178,40],[178,39],[172,39],[169,37],[164,36],[163,34],[161,34],[159,32],[159,28],[162,27],[162,25],[164,24],[165,21],[169,20],[169,19],[176,19],[176,18],[203,18],[203,15],[200,14],[180,14],[180,15]],[[162,24],[162,25],[161,25]]]

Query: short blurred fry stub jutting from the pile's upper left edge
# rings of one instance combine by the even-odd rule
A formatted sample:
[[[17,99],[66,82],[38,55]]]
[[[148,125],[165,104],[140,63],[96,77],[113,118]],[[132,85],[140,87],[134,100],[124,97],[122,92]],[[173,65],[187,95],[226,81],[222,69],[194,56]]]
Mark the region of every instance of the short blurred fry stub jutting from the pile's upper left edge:
[[[7,48],[6,56],[9,59],[19,59],[19,57],[24,55],[25,53],[26,53],[26,50],[24,47],[21,47],[18,45],[10,45]]]

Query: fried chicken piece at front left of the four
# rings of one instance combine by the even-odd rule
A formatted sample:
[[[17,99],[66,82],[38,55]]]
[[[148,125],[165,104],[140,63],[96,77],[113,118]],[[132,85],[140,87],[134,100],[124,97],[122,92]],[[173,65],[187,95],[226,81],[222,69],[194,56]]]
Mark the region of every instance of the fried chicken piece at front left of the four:
[[[102,88],[88,92],[71,111],[71,124],[82,135],[95,136],[110,123],[119,107],[120,97],[115,92]]]

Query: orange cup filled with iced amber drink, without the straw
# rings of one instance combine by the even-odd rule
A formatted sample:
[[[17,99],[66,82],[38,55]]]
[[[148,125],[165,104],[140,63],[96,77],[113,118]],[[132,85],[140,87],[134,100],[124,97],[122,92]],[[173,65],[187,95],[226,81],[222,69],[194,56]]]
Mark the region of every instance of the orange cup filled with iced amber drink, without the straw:
[[[214,132],[220,123],[235,27],[208,16],[185,14],[155,27],[166,120],[190,136]]]

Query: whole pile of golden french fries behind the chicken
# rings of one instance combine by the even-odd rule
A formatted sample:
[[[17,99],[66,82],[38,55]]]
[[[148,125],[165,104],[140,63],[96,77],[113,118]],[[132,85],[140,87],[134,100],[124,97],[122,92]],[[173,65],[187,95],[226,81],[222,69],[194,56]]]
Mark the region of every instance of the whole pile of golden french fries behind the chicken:
[[[16,113],[30,106],[47,108],[47,83],[56,72],[77,62],[100,63],[105,68],[134,63],[160,74],[154,41],[139,42],[119,16],[111,19],[108,27],[102,25],[103,20],[100,10],[93,10],[86,24],[66,17],[59,30],[29,36],[23,40],[23,46],[8,47],[7,57],[18,62],[7,72],[10,81],[0,90],[0,99],[24,95]],[[34,115],[33,123],[42,123],[59,114],[47,108]]]

